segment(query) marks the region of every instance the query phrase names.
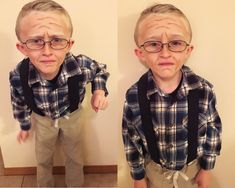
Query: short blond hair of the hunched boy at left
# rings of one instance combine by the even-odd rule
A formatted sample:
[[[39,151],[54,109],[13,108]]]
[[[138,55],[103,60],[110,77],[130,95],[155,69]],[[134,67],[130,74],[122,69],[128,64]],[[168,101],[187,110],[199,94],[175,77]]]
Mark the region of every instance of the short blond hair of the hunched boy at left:
[[[31,11],[42,11],[42,12],[58,12],[61,15],[64,15],[66,19],[68,20],[69,29],[70,29],[70,37],[73,34],[73,25],[71,18],[67,12],[67,10],[62,7],[60,4],[56,3],[52,0],[34,0],[32,2],[29,2],[25,4],[21,11],[18,14],[16,25],[15,25],[15,33],[17,38],[20,40],[20,22],[23,17],[25,17],[28,13]]]

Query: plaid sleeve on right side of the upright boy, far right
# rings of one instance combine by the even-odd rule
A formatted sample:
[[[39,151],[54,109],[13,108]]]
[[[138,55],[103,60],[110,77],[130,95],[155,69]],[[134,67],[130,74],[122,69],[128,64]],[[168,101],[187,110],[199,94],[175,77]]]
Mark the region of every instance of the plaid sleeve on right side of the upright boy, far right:
[[[221,150],[221,120],[216,110],[216,97],[212,92],[211,100],[208,103],[207,111],[207,130],[206,141],[203,148],[203,155],[200,158],[200,166],[205,170],[213,169],[215,166],[216,156]]]

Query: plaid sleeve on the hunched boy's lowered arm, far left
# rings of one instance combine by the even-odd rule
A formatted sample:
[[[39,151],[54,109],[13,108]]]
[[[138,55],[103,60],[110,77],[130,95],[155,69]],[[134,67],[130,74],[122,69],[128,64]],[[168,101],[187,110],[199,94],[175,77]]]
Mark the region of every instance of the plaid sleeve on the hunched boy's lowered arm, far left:
[[[10,72],[10,93],[14,118],[19,121],[21,130],[29,130],[31,110],[25,104],[20,76],[15,72]]]

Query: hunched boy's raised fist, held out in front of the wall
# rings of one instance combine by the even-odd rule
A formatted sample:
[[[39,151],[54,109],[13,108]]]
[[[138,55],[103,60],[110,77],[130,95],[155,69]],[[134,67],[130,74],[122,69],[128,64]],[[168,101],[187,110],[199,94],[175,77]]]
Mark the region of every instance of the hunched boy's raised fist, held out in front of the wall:
[[[95,112],[104,110],[108,106],[108,100],[103,90],[95,90],[91,98],[91,106]]]

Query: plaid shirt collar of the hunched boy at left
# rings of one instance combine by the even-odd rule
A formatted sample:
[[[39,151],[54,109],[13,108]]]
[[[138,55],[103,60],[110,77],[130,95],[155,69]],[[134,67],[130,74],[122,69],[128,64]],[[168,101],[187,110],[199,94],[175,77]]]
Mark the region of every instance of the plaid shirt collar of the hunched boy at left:
[[[82,74],[82,70],[79,67],[78,60],[71,53],[68,53],[65,56],[64,62],[61,66],[63,67],[61,70],[61,74],[58,77],[58,85],[63,85],[64,83],[66,83],[69,77]],[[41,85],[47,84],[47,81],[41,78],[37,69],[30,62],[29,63],[29,85],[33,85],[38,82]]]

